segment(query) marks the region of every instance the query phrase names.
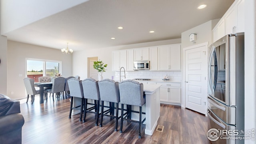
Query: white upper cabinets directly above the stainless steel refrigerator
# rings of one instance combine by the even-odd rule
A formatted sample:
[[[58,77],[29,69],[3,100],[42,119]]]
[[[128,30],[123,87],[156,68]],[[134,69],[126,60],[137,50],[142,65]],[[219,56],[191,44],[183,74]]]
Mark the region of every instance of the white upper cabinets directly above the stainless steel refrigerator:
[[[235,0],[212,30],[213,41],[215,42],[227,34],[244,32],[244,17],[244,0]]]

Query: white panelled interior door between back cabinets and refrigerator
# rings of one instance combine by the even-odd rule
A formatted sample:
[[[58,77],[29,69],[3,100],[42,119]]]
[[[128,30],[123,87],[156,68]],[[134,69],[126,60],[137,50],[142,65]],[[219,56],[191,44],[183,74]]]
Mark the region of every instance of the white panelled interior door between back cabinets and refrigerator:
[[[206,114],[207,46],[185,50],[185,106]]]

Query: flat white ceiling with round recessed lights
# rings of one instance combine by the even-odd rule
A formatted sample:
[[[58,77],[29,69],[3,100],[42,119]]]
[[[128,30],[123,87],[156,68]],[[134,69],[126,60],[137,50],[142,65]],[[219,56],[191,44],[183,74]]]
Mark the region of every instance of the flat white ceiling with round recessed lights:
[[[74,51],[181,38],[221,18],[234,0],[90,0],[4,35],[8,40]],[[198,10],[200,4],[207,7]],[[124,27],[119,30],[118,26]],[[149,33],[154,30],[154,33]],[[111,40],[110,38],[116,38]]]

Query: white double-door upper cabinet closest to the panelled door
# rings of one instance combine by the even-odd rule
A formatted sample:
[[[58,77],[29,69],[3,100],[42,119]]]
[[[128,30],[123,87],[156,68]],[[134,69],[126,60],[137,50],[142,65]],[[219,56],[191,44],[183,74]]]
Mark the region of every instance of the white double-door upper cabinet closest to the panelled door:
[[[158,70],[180,70],[180,44],[158,47]]]

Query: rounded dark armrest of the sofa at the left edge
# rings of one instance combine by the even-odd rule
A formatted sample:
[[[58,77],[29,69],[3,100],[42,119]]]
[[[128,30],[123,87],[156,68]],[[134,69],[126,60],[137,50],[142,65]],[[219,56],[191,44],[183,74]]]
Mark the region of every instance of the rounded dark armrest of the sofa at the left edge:
[[[0,136],[22,128],[24,122],[24,117],[20,113],[0,116]]]

